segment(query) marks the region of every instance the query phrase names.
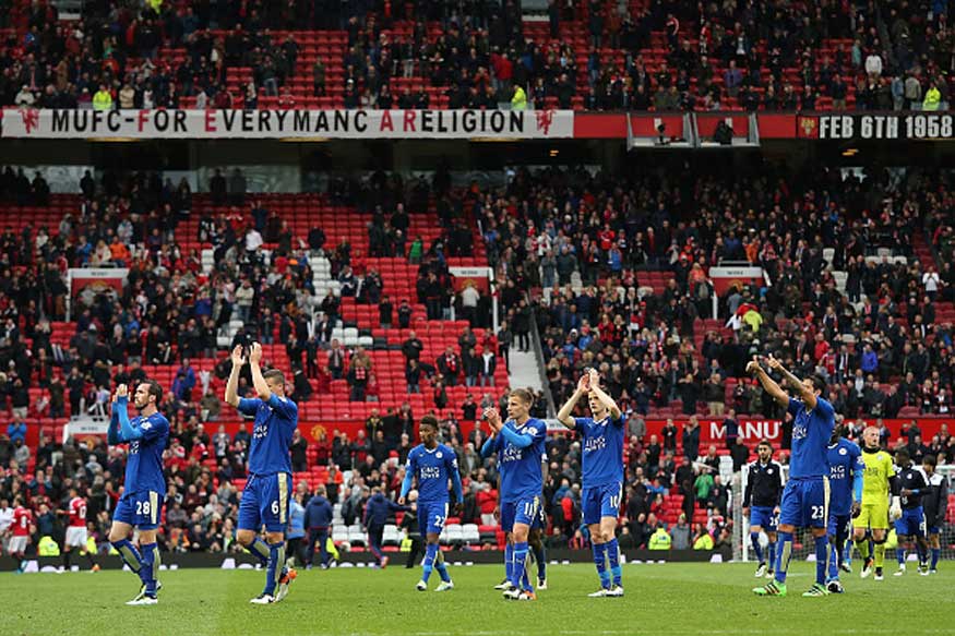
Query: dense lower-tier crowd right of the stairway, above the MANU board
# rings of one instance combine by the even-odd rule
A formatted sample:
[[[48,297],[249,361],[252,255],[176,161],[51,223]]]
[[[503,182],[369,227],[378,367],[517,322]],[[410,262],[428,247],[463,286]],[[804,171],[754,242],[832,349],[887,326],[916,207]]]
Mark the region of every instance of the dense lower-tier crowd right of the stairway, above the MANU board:
[[[752,166],[741,191],[735,169],[692,169],[689,188],[665,170],[634,175],[626,189],[583,170],[518,172],[480,201],[508,324],[534,315],[556,400],[596,367],[643,415],[670,403],[703,412],[726,397],[737,412],[779,417],[750,382],[724,394],[768,350],[824,374],[848,418],[951,411],[952,324],[935,320],[935,305],[955,298],[955,278],[944,257],[938,272],[915,259],[911,231],[921,215],[916,231],[951,252],[948,173],[784,179]],[[767,281],[717,295],[707,272],[721,261],[760,265]],[[673,273],[666,288],[644,295],[646,267]],[[847,273],[845,293],[832,271]],[[714,296],[719,322],[701,322]]]

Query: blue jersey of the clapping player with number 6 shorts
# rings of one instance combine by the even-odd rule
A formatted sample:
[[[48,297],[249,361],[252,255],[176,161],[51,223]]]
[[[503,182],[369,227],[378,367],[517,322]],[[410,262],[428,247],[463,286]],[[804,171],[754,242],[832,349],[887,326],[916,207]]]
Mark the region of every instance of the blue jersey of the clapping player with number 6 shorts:
[[[255,416],[252,444],[249,448],[249,472],[274,475],[291,472],[288,447],[298,427],[298,407],[287,397],[274,393],[268,401],[252,398],[239,400],[239,412]]]

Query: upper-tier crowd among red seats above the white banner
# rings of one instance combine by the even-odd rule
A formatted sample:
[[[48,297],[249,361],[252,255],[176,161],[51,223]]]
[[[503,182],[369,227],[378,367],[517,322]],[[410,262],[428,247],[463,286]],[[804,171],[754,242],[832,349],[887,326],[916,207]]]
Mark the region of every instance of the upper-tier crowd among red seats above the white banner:
[[[33,2],[0,17],[0,106],[296,108],[306,77],[339,108],[935,110],[955,70],[946,3],[500,4]],[[306,63],[276,35],[302,26],[345,46]]]

